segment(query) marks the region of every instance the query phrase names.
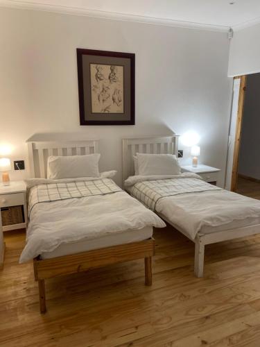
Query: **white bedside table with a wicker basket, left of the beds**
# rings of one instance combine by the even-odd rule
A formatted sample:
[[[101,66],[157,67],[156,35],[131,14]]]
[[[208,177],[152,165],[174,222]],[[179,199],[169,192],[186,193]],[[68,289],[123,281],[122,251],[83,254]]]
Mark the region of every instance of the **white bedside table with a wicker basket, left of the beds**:
[[[12,181],[7,186],[0,183],[0,209],[3,231],[26,228],[26,184],[23,180]]]

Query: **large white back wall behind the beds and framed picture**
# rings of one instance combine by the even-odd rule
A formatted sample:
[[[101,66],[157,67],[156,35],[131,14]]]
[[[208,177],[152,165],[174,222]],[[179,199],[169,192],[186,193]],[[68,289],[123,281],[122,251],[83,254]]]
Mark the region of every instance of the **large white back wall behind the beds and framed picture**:
[[[0,142],[14,146],[12,159],[27,159],[29,138],[99,138],[101,169],[119,170],[120,183],[122,137],[192,129],[200,160],[224,177],[232,90],[225,33],[0,8],[0,47]],[[79,126],[77,47],[136,53],[135,126]]]

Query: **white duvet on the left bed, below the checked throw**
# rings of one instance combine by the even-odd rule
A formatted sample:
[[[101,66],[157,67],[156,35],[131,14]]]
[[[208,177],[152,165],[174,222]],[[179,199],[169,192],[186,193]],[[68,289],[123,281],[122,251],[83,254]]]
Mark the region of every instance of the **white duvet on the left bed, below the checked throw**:
[[[51,252],[63,243],[146,226],[163,228],[165,223],[123,191],[37,203],[31,210],[19,262]]]

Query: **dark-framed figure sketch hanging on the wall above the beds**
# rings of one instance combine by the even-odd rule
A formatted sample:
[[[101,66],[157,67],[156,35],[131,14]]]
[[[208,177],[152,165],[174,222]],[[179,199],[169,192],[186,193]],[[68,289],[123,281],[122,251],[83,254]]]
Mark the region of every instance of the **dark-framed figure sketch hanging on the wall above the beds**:
[[[135,54],[77,49],[80,125],[135,124]]]

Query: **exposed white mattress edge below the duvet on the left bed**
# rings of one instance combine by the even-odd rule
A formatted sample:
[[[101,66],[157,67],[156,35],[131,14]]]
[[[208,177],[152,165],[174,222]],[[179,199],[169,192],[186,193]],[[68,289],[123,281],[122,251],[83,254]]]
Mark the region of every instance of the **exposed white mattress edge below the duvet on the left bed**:
[[[61,244],[54,251],[44,252],[41,254],[42,259],[61,257],[62,255],[75,254],[80,252],[91,251],[93,249],[116,246],[119,244],[130,244],[140,242],[153,236],[153,227],[146,226],[142,229],[125,230],[116,234],[111,234],[97,239],[87,239],[80,242],[71,242]]]

